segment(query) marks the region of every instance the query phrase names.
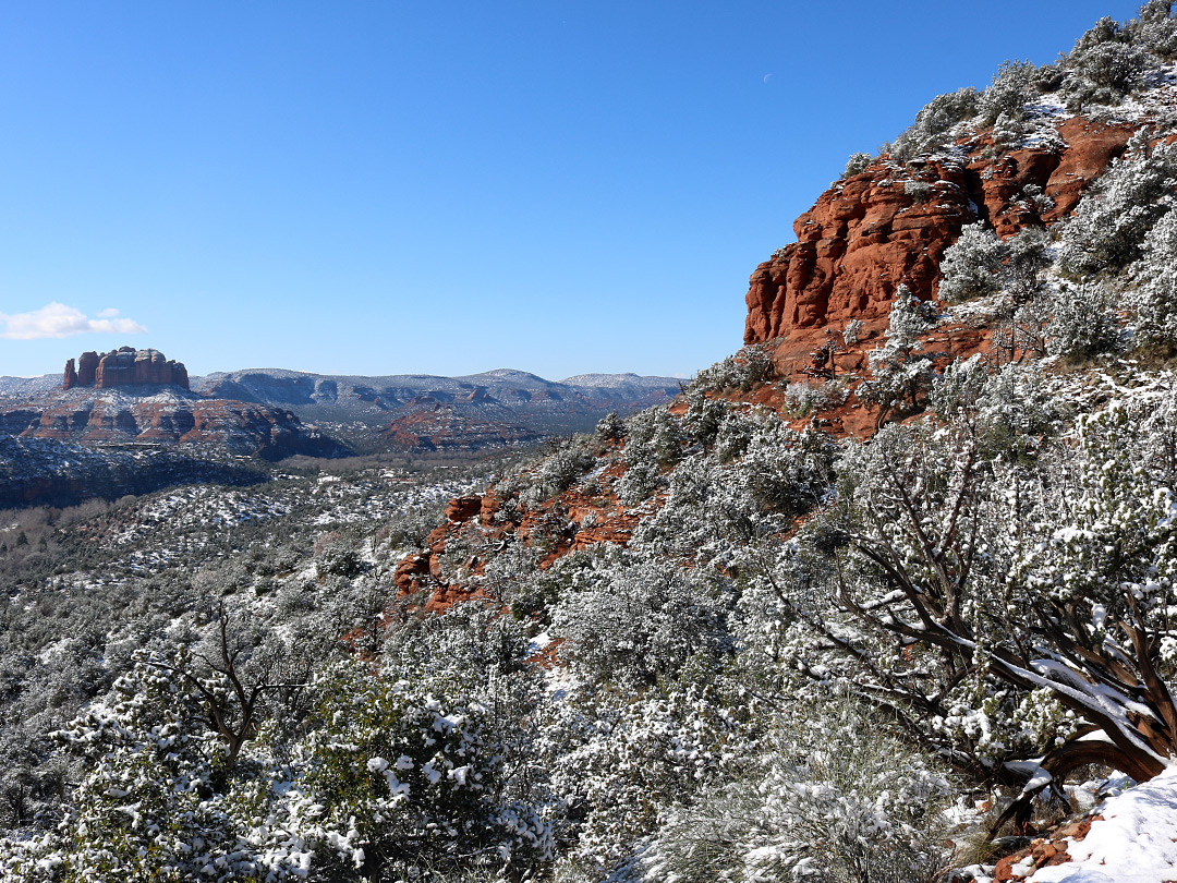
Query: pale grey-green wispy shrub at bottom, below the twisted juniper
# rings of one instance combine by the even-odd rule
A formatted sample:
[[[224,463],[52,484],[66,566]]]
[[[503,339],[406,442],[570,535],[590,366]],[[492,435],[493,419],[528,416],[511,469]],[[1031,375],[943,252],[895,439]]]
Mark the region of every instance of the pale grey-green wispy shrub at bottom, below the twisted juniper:
[[[837,699],[774,715],[743,775],[665,814],[643,879],[939,879],[953,785],[860,715]]]

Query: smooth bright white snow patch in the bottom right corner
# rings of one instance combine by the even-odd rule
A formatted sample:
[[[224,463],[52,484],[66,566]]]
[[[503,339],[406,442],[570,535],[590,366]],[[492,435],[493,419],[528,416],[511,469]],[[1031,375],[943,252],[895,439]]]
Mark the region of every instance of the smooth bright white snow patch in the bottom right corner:
[[[1111,797],[1071,861],[1043,868],[1028,883],[1165,883],[1177,879],[1177,766]]]

